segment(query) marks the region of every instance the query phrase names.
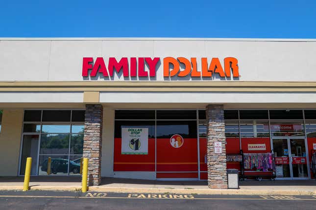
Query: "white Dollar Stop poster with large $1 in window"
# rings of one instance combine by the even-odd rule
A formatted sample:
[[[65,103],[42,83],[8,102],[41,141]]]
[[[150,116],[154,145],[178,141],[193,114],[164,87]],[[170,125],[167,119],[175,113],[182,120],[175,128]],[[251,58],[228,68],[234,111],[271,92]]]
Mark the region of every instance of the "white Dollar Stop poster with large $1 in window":
[[[122,128],[122,154],[148,154],[148,128]]]

